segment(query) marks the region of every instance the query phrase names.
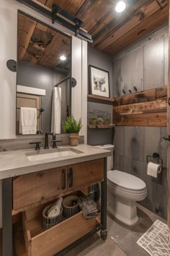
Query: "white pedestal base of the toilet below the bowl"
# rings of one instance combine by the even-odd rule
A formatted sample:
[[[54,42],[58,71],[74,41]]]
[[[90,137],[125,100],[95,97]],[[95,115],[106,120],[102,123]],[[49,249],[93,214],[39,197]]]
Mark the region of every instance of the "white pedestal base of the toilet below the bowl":
[[[136,202],[108,194],[107,210],[109,213],[128,226],[135,225],[138,222]]]

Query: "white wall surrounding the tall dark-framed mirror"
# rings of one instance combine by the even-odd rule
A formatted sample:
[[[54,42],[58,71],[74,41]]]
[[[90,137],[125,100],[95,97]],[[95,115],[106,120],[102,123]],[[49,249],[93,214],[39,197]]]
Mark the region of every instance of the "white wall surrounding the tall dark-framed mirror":
[[[50,19],[38,14],[24,4],[15,0],[1,0],[0,5],[0,140],[16,137],[15,132],[15,114],[16,114],[16,80],[17,73],[11,72],[6,68],[8,59],[17,60],[17,11],[30,14],[38,20],[53,26],[68,35],[73,35],[69,30],[61,25],[52,25]],[[87,90],[87,46],[79,38],[73,36],[73,55],[72,55],[72,76],[77,80],[76,88],[72,90],[72,114],[76,118],[82,117],[83,129],[81,135],[86,137],[86,93]],[[82,59],[82,57],[84,59]],[[79,94],[80,93],[80,94]],[[83,98],[83,101],[82,101]],[[79,99],[79,100],[78,100]],[[82,106],[82,103],[84,104]],[[0,184],[1,190],[1,184]],[[0,192],[1,209],[1,192]],[[0,212],[1,227],[1,212]]]

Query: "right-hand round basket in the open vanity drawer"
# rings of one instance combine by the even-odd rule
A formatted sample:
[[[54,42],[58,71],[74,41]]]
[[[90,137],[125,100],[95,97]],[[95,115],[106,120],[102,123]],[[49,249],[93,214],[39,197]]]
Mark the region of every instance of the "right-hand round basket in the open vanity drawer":
[[[64,218],[69,218],[76,213],[79,213],[80,207],[78,204],[79,197],[75,195],[70,195],[63,199],[63,216]],[[75,202],[75,205],[73,205]]]

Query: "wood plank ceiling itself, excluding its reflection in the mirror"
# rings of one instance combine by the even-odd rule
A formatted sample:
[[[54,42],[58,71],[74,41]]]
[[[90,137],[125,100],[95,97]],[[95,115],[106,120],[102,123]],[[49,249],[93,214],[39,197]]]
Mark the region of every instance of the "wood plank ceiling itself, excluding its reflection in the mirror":
[[[169,21],[169,0],[125,0],[125,12],[116,13],[117,0],[38,0],[56,3],[84,22],[92,46],[107,54],[130,46]]]

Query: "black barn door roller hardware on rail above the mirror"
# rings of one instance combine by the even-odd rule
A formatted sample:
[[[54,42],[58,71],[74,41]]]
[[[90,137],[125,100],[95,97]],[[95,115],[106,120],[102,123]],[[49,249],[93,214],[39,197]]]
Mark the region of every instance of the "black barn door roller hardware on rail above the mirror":
[[[68,30],[73,31],[75,35],[80,35],[85,40],[89,42],[93,42],[91,35],[86,33],[86,31],[81,29],[81,25],[83,22],[76,18],[73,14],[67,12],[65,9],[62,9],[58,6],[58,4],[53,4],[52,10],[48,7],[42,7],[42,4],[38,4],[35,0],[17,0],[22,4],[27,5],[34,9],[36,12],[48,17],[52,20],[52,23],[57,22],[58,24],[62,25],[63,27],[68,28]]]

